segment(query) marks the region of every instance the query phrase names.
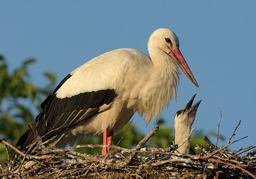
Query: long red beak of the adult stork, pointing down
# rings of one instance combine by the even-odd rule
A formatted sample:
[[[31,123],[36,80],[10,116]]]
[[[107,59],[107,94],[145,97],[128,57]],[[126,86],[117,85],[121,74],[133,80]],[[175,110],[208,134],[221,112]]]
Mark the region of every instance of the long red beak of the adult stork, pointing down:
[[[191,70],[189,69],[188,64],[186,63],[184,57],[182,56],[179,48],[170,49],[170,50],[172,52],[170,52],[169,56],[175,61],[175,63],[177,63],[177,65],[184,72],[184,74],[190,79],[190,81],[193,82],[193,84],[195,84],[196,87],[198,87],[196,79],[192,74]]]

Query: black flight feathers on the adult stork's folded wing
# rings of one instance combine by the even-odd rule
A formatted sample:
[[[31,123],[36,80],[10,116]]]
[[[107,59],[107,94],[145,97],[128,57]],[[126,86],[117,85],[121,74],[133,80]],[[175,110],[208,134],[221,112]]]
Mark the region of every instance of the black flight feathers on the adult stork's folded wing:
[[[53,136],[61,134],[65,129],[74,127],[78,123],[91,118],[99,112],[99,107],[110,104],[116,97],[114,89],[104,89],[99,91],[80,93],[72,97],[58,98],[56,92],[62,84],[72,75],[68,74],[57,86],[51,95],[42,102],[42,112],[36,116],[35,127],[40,136],[44,136],[52,129],[60,128],[45,136],[43,141]],[[34,141],[33,134],[28,130],[17,142],[20,150],[26,150],[26,146]]]

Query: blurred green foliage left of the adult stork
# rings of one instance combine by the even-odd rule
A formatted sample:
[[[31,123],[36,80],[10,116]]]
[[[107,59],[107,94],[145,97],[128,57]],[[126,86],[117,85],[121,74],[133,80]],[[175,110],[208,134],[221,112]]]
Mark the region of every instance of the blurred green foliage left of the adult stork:
[[[33,63],[35,59],[28,59],[13,72],[8,72],[8,65],[0,56],[0,137],[13,144],[28,130],[28,123],[34,121],[36,108],[33,111],[31,106],[40,104],[56,81],[54,74],[45,73],[49,84],[44,88],[35,86],[28,74],[28,66]],[[6,157],[2,146],[0,160]]]

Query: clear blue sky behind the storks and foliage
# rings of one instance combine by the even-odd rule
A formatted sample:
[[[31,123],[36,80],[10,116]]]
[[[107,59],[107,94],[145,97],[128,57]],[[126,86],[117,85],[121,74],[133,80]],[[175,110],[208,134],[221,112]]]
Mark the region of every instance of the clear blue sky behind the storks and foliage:
[[[180,51],[199,88],[182,73],[175,100],[162,117],[173,127],[176,111],[193,94],[202,99],[193,127],[217,131],[228,138],[241,121],[233,144],[237,150],[256,144],[256,1],[1,1],[0,54],[17,68],[35,58],[29,68],[39,86],[43,72],[54,72],[58,82],[86,61],[104,52],[129,47],[145,54],[150,34],[172,29]],[[154,127],[143,118],[134,123],[145,134]],[[211,138],[213,143],[216,139]]]

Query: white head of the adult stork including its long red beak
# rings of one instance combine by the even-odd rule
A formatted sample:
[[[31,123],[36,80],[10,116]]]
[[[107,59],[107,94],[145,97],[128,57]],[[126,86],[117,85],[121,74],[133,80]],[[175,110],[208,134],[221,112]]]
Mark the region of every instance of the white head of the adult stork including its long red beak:
[[[179,50],[179,38],[173,31],[164,28],[154,31],[148,40],[148,52],[151,58],[165,52],[170,57],[169,59],[175,61],[190,81],[198,87],[194,75]]]

